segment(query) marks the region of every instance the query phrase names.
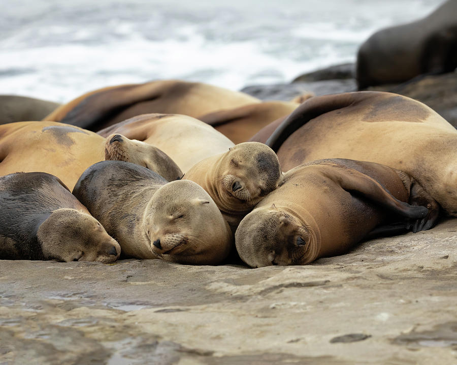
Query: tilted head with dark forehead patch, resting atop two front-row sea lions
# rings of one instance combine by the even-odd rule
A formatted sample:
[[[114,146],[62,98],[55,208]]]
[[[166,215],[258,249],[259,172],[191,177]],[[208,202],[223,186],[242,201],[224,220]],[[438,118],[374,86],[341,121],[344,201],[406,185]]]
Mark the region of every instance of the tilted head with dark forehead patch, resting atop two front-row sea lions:
[[[250,210],[282,180],[278,156],[259,142],[231,147],[222,155],[217,174],[216,189],[229,213]]]

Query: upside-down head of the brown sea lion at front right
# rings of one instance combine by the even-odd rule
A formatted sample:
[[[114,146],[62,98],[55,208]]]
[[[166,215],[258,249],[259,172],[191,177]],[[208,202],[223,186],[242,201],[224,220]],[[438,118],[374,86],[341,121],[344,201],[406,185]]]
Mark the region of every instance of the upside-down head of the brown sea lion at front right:
[[[303,265],[316,259],[318,231],[284,210],[256,208],[246,215],[235,233],[241,259],[250,267]]]

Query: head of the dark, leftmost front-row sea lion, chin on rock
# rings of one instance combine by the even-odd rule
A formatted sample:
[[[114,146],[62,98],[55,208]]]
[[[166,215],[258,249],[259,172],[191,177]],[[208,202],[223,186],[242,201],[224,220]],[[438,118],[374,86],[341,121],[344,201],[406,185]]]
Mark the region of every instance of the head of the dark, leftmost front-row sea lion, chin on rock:
[[[45,257],[59,261],[113,262],[120,246],[94,217],[75,209],[57,209],[40,225]]]

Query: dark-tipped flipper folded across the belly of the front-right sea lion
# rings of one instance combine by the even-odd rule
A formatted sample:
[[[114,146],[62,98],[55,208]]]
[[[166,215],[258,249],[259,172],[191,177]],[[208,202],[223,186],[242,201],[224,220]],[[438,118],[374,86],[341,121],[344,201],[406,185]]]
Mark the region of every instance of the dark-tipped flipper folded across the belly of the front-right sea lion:
[[[374,201],[404,217],[418,219],[425,217],[429,213],[429,210],[426,207],[412,206],[408,203],[399,201],[378,181],[357,170],[337,170],[334,172],[332,178],[335,182],[338,182],[344,190],[348,192],[356,191],[368,200]]]

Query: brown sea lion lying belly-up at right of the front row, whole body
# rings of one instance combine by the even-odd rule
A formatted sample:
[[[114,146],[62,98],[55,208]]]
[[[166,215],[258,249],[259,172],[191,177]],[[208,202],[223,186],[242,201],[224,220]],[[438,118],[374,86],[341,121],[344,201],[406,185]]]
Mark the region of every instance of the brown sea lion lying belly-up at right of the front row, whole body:
[[[430,213],[408,201],[430,205]],[[437,213],[436,202],[401,171],[373,162],[319,160],[285,173],[282,184],[241,221],[235,244],[254,268],[303,265],[347,252],[394,217],[417,220],[400,223],[417,231],[430,228]]]

